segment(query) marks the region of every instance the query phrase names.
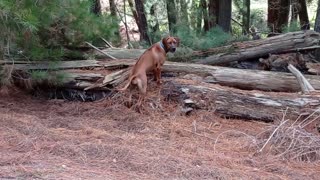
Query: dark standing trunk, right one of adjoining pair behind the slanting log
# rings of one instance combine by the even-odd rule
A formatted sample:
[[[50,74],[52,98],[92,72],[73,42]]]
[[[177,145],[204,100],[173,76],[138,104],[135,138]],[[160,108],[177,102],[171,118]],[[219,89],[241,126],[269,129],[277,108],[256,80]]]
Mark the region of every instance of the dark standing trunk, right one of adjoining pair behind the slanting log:
[[[225,32],[231,31],[231,12],[232,12],[232,1],[231,0],[219,0],[218,25]]]

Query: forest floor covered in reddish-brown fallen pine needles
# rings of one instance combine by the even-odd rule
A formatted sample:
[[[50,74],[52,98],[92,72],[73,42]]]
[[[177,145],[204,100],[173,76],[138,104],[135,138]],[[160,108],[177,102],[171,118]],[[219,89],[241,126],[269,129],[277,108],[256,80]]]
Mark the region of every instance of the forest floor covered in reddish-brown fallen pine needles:
[[[319,179],[318,162],[257,153],[270,124],[96,102],[0,98],[0,179]]]

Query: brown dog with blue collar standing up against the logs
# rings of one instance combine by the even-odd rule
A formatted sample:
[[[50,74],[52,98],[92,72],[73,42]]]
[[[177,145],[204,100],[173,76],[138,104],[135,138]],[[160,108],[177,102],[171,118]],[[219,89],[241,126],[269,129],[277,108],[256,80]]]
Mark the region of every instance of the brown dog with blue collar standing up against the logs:
[[[130,85],[137,85],[141,93],[138,101],[138,104],[140,105],[147,93],[147,72],[153,71],[154,79],[157,81],[157,84],[160,85],[161,67],[166,60],[166,54],[169,51],[175,52],[176,48],[179,46],[179,41],[179,38],[169,36],[163,38],[160,42],[153,44],[140,56],[137,63],[133,66],[129,76],[129,82],[124,88],[118,90],[125,91]],[[129,101],[131,101],[131,96],[132,94],[130,92]]]

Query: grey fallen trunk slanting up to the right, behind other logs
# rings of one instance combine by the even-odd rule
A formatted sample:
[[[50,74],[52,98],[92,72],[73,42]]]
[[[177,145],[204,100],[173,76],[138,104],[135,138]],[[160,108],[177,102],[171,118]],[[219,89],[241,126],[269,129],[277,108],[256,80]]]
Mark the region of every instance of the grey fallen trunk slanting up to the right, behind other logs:
[[[320,34],[315,31],[298,31],[278,36],[234,43],[229,46],[229,51],[215,54],[204,59],[195,59],[194,62],[200,64],[217,65],[230,63],[233,61],[243,61],[248,59],[265,57],[268,54],[296,51],[300,48],[319,48]],[[310,50],[308,48],[307,50]]]

